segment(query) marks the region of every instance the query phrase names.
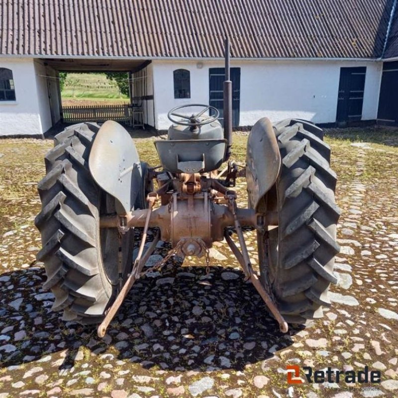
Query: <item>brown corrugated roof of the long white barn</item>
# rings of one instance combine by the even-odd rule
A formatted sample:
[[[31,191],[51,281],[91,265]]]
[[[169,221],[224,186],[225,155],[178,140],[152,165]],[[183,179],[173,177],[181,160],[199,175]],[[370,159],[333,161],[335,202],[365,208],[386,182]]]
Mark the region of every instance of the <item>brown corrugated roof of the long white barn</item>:
[[[393,0],[1,0],[0,54],[376,58]]]

